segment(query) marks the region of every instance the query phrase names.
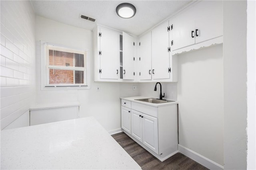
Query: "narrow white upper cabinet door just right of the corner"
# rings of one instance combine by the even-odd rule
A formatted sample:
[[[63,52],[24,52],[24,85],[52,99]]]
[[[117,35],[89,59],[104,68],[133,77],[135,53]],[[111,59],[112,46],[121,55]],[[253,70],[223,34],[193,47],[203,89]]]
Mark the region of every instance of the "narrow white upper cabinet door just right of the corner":
[[[140,37],[138,51],[139,80],[151,80],[151,31]]]

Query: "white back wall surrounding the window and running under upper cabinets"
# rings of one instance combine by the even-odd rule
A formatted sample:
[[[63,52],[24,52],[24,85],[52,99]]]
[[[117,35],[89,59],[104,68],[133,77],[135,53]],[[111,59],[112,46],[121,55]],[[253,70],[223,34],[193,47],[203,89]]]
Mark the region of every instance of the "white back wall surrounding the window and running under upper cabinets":
[[[89,49],[91,88],[84,90],[41,90],[39,41],[46,41],[76,49]],[[139,90],[132,90],[136,83],[94,82],[92,31],[73,27],[36,16],[36,102],[37,104],[80,102],[80,117],[94,116],[110,133],[120,130],[120,97],[138,96]],[[100,91],[96,90],[100,86]]]

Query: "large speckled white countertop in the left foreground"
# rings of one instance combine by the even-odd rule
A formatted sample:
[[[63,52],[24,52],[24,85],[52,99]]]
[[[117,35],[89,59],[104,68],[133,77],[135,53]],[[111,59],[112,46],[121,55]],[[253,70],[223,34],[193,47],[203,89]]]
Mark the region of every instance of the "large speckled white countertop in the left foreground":
[[[1,169],[141,169],[93,118],[1,131]]]

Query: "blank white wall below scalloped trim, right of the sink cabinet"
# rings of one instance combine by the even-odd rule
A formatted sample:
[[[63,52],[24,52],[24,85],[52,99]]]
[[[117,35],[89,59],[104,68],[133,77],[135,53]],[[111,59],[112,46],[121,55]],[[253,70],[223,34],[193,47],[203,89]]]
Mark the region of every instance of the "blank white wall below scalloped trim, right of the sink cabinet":
[[[222,45],[178,56],[179,144],[223,166]]]

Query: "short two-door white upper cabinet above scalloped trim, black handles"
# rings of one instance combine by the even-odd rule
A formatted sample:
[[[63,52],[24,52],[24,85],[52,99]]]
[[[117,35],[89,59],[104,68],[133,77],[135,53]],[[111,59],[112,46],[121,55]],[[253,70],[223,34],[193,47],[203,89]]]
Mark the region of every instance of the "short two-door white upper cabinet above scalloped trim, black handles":
[[[172,50],[223,35],[222,1],[200,1],[177,14],[172,25]]]

